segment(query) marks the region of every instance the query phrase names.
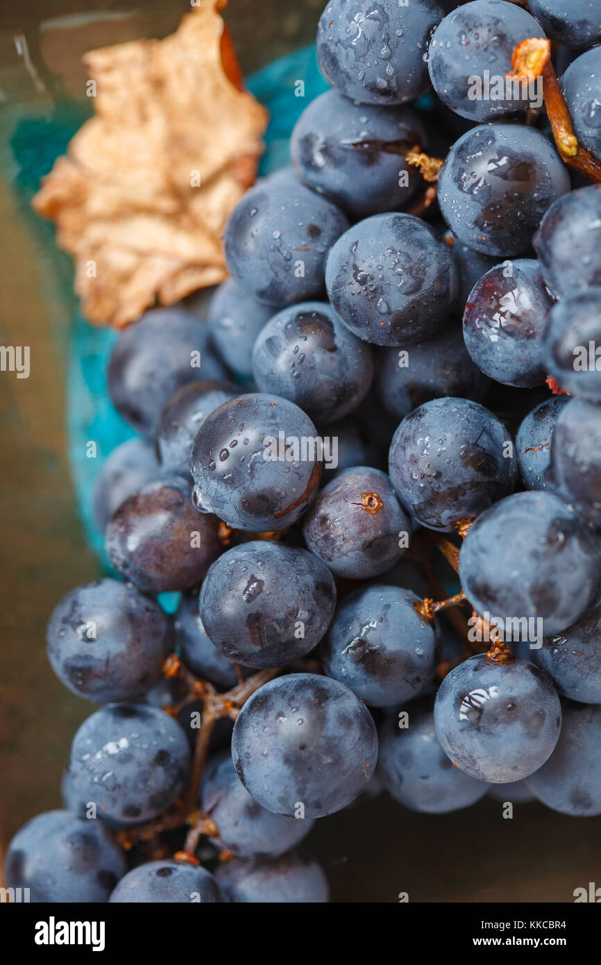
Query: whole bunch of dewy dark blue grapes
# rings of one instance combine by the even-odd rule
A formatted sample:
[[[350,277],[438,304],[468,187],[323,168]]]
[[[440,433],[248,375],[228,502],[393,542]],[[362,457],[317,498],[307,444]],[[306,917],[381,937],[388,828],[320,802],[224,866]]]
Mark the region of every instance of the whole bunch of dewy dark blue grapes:
[[[47,630],[100,707],[9,886],[320,902],[302,841],[381,789],[601,813],[600,19],[328,3],[332,88],[234,208],[207,323],[155,309],[113,351],[118,578]]]

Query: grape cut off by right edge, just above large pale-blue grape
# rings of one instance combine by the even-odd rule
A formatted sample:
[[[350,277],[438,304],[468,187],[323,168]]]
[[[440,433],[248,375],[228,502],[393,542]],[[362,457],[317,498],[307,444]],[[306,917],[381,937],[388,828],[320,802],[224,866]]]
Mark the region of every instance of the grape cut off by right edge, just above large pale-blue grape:
[[[551,443],[550,476],[560,496],[601,528],[601,408],[571,399]]]

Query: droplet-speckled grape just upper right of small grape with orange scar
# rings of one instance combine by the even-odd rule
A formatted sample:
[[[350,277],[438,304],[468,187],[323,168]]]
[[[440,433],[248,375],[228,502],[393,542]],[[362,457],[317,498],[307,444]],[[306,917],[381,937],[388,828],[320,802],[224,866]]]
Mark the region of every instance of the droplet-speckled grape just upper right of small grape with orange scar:
[[[396,429],[389,472],[405,509],[449,533],[511,492],[517,462],[505,426],[479,402],[433,399]]]

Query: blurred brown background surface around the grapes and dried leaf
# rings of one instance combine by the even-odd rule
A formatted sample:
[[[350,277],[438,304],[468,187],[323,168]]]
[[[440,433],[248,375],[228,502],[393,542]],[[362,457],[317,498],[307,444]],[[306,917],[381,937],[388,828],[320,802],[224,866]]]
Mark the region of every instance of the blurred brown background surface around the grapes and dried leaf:
[[[223,15],[244,74],[313,43],[322,7],[230,0]],[[52,674],[45,624],[65,593],[102,571],[68,458],[69,352],[82,344],[73,342],[72,262],[31,211],[31,197],[89,116],[81,55],[164,37],[189,9],[181,0],[147,0],[141,9],[102,0],[0,3],[0,338],[31,350],[29,378],[0,372],[0,845],[29,817],[60,807],[68,747],[92,707]],[[406,892],[410,901],[564,902],[599,882],[601,817],[524,804],[504,820],[489,798],[429,816],[382,795],[318,821],[308,846],[335,901],[394,902]]]

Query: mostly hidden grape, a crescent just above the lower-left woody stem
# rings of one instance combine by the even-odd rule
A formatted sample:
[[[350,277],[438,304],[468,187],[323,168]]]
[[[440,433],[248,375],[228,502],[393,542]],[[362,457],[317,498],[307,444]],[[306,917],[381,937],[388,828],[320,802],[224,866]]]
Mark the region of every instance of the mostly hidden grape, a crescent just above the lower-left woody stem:
[[[184,594],[181,597],[174,621],[174,636],[181,659],[193,674],[208,680],[219,690],[231,690],[236,686],[239,681],[235,665],[208,636],[199,613],[198,595]]]

